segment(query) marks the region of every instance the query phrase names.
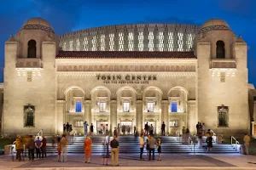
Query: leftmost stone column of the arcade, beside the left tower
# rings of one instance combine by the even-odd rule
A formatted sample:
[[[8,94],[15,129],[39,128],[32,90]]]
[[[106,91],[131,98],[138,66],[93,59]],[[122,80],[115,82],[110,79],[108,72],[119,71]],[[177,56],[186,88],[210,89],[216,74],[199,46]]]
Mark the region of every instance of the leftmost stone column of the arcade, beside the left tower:
[[[66,124],[66,101],[57,100],[57,113],[56,113],[56,134],[63,134],[63,124]]]

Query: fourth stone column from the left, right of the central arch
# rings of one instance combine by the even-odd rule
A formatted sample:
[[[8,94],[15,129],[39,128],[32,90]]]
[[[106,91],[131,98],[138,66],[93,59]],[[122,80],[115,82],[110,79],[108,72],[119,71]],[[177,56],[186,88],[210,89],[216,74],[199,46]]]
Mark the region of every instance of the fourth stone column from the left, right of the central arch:
[[[143,123],[143,100],[136,101],[136,126],[138,133],[144,128]]]

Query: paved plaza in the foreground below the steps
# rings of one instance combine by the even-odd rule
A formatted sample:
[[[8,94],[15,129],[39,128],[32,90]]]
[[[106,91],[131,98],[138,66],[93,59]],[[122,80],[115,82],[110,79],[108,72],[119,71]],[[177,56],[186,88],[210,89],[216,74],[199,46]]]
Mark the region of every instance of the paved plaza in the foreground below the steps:
[[[84,154],[68,154],[67,162],[58,162],[55,154],[34,161],[12,161],[10,156],[0,156],[0,170],[256,169],[256,156],[239,154],[168,154],[163,155],[162,161],[140,161],[138,157],[120,154],[119,167],[111,167],[102,165],[100,155],[93,155],[90,164],[83,162]]]

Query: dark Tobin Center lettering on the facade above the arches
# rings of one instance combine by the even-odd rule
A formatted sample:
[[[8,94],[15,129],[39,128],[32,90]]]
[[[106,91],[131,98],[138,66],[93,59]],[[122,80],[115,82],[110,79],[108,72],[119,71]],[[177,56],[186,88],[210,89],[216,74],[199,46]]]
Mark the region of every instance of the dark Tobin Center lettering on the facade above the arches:
[[[148,84],[149,81],[156,81],[155,75],[96,75],[97,80],[103,83],[114,84]]]

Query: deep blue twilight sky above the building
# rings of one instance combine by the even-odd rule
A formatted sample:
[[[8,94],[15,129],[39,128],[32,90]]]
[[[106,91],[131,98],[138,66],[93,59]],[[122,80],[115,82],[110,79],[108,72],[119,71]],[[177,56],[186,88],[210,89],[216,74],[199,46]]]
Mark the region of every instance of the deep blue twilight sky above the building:
[[[32,17],[48,20],[57,35],[96,26],[147,22],[201,25],[220,18],[247,42],[249,82],[256,85],[256,0],[2,0],[0,82],[4,42]]]

